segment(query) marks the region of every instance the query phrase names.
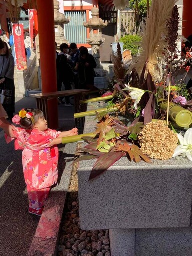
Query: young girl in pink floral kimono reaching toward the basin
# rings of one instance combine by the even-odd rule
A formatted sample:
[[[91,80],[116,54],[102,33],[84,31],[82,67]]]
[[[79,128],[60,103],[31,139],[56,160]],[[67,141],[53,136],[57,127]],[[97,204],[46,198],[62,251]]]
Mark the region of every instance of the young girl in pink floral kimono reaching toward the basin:
[[[58,148],[62,137],[77,135],[76,128],[68,131],[48,129],[43,113],[38,109],[25,108],[12,121],[16,128],[15,149],[23,149],[22,165],[27,185],[29,213],[40,216],[50,188],[58,178]]]

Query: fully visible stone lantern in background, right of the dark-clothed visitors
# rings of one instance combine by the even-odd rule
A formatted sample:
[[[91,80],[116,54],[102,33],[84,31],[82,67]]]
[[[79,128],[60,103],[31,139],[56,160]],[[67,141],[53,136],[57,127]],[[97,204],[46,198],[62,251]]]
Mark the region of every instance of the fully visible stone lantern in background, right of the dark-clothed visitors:
[[[90,38],[87,39],[87,43],[92,46],[92,55],[96,61],[96,68],[100,67],[100,45],[105,41],[105,38],[102,37],[102,28],[107,26],[107,21],[103,22],[101,18],[99,18],[99,9],[94,6],[91,9],[92,18],[90,18],[87,23],[84,22],[83,25],[85,27],[91,28],[90,30]]]

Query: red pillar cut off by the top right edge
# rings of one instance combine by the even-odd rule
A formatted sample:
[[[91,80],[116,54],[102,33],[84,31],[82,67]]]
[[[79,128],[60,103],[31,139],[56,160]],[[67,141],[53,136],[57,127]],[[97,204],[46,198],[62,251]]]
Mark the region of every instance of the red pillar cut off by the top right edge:
[[[191,0],[183,0],[182,35],[187,38],[192,34]]]

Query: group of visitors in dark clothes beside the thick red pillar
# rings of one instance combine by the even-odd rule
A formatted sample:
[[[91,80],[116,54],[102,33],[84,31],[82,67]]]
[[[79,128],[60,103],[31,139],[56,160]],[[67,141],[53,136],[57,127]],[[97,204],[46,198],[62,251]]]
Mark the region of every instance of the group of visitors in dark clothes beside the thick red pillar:
[[[56,44],[57,48],[57,44]],[[96,61],[84,46],[77,48],[76,43],[72,42],[69,46],[66,43],[60,45],[60,53],[56,51],[57,67],[57,88],[69,90],[72,85],[76,89],[98,90],[94,86]],[[65,97],[65,102],[61,103],[71,106],[70,97]]]

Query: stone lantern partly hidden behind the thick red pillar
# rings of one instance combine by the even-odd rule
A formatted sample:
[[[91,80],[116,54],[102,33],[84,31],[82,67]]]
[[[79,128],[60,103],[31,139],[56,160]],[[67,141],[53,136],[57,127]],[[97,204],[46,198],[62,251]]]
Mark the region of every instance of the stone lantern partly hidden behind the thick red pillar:
[[[54,0],[54,24],[55,24],[55,41],[59,48],[61,43],[68,43],[64,37],[64,25],[70,22],[70,17],[66,18],[63,13],[59,12],[59,1]]]

